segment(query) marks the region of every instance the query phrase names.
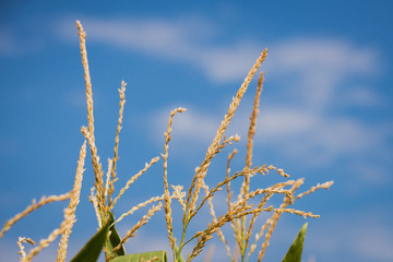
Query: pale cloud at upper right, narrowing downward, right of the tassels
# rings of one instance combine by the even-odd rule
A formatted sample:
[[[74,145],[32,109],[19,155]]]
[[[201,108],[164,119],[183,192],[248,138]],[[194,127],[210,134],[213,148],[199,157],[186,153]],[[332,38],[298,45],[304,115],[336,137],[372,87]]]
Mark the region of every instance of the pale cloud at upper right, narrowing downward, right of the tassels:
[[[286,79],[293,99],[323,110],[342,96],[343,81],[364,79],[378,70],[377,53],[340,39],[288,39],[272,45],[267,72]],[[350,98],[350,97],[348,97]],[[345,103],[350,103],[346,100]]]

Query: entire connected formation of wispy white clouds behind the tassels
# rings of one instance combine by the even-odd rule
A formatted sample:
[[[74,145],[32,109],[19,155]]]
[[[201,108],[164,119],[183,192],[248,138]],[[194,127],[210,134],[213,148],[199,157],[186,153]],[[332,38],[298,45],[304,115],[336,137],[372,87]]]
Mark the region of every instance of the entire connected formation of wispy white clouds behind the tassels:
[[[83,23],[92,41],[187,63],[216,82],[243,79],[266,46],[252,36],[218,45],[218,25],[203,17],[87,19]],[[359,154],[385,152],[383,144],[390,138],[386,128],[370,126],[361,116],[347,114],[359,106],[370,108],[383,104],[381,95],[364,84],[380,71],[376,50],[344,39],[306,37],[271,41],[269,48],[263,66],[267,79],[265,88],[281,92],[275,92],[270,102],[262,105],[257,147],[263,143],[287,148],[284,155],[308,159],[314,165],[332,164],[348,154],[358,163],[362,162]],[[152,126],[165,129],[167,114],[165,109],[153,112]],[[222,117],[193,107],[177,116],[174,132],[209,143]],[[230,127],[247,127],[248,119],[249,112],[240,109]],[[246,139],[247,129],[229,131],[228,134],[240,132]]]

